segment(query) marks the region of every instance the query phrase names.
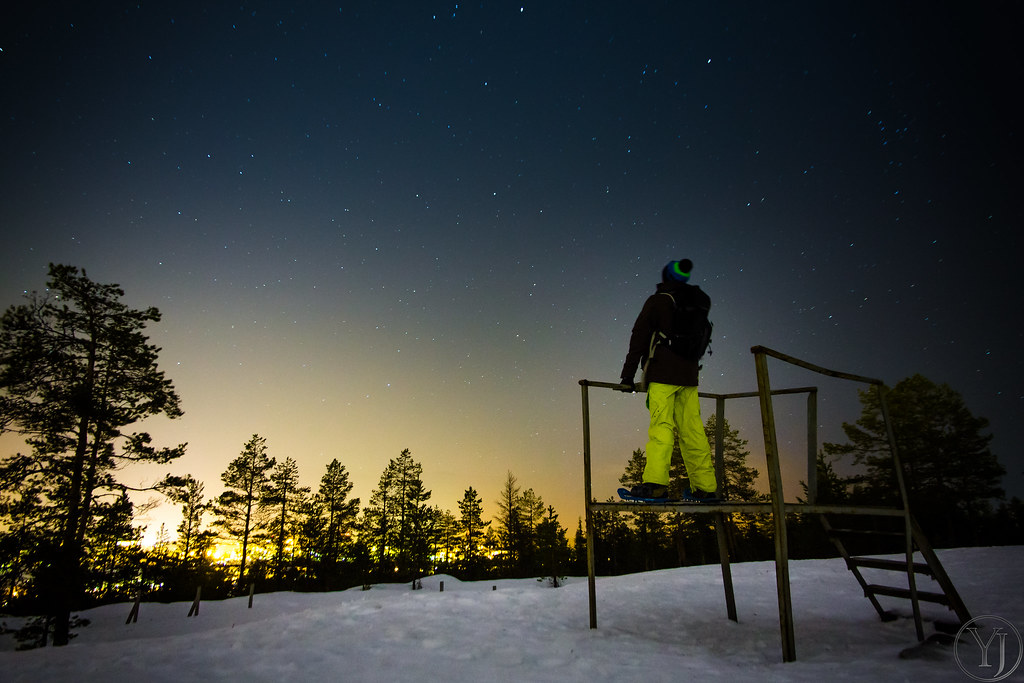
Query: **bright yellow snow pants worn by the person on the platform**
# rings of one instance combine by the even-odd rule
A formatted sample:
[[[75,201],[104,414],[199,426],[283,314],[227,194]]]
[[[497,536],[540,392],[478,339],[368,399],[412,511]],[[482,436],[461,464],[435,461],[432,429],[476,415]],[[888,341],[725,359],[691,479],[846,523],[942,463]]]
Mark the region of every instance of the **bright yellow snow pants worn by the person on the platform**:
[[[697,388],[651,382],[647,385],[647,405],[650,428],[647,430],[647,464],[643,480],[668,485],[669,464],[678,432],[679,451],[690,478],[690,487],[709,493],[718,490],[711,444],[700,419]]]

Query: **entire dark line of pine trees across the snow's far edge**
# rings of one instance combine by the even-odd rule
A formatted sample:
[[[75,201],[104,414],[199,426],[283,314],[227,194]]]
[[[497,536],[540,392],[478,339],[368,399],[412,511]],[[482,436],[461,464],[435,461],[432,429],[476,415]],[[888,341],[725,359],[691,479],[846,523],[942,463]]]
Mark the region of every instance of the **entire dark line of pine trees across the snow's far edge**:
[[[555,510],[511,473],[497,493],[496,517],[484,521],[471,486],[454,502],[458,513],[432,504],[422,465],[403,451],[361,505],[341,462],[326,466],[315,490],[304,487],[295,461],[271,457],[258,434],[228,463],[216,495],[190,476],[169,474],[154,484],[180,506],[182,521],[173,539],[161,529],[156,547],[142,548],[129,497],[135,489],[118,472],[171,464],[186,445],[158,447],[145,432],[130,431],[181,410],[157,367],[160,349],[143,334],[159,311],[132,309],[123,296],[116,285],[51,265],[45,294],[29,295],[0,318],[0,433],[22,437],[28,447],[0,458],[0,604],[46,614],[54,644],[68,642],[73,610],[140,589],[151,599],[187,599],[197,586],[217,597],[254,583],[261,590],[333,590],[438,571],[552,582],[587,572],[582,523],[570,546]],[[987,422],[948,386],[921,376],[894,386],[888,403],[911,509],[932,544],[1024,543],[1024,511],[1019,500],[1004,500],[1005,469],[989,451]],[[817,500],[898,505],[877,394],[862,393],[861,404],[856,423],[843,425],[847,442],[825,443],[819,455]],[[715,433],[714,417],[706,427]],[[728,424],[723,430],[721,493],[763,500],[746,441]],[[834,464],[856,474],[838,474]],[[642,466],[643,452],[636,451],[622,483],[639,483]],[[673,493],[685,476],[677,453]],[[710,523],[707,515],[597,514],[597,571],[717,561]],[[816,518],[793,517],[790,524],[794,557],[835,554]],[[772,556],[766,515],[729,515],[726,532],[734,560]],[[236,554],[217,559],[212,551],[221,546]]]

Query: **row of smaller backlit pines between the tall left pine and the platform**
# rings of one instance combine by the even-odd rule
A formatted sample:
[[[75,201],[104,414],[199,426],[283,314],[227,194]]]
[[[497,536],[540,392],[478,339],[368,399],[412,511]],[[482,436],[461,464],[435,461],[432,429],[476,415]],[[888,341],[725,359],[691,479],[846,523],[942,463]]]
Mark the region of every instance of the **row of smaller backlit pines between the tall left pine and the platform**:
[[[200,584],[214,596],[253,583],[261,590],[339,590],[438,572],[554,579],[568,568],[558,514],[532,489],[522,490],[511,472],[499,494],[499,514],[486,521],[472,486],[457,501],[458,513],[431,504],[423,466],[408,449],[388,462],[361,508],[337,459],[312,490],[300,485],[296,462],[272,458],[259,434],[228,464],[221,483],[223,492],[207,499],[205,484],[188,477],[174,494],[182,521],[173,542],[144,552],[137,530],[112,540],[124,549],[129,574],[137,563],[132,553],[147,560],[151,594],[183,599]],[[226,557],[218,552],[225,550]],[[111,590],[131,592],[135,585]]]

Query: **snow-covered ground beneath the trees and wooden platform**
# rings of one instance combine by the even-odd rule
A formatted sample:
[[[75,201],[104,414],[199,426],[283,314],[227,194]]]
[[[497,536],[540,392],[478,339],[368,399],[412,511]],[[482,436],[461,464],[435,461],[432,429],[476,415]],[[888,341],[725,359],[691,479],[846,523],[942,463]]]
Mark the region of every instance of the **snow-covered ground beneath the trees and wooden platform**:
[[[1022,630],[1024,547],[939,556],[974,616],[998,615]],[[91,624],[67,647],[13,651],[11,639],[0,637],[0,679],[970,680],[954,656],[959,645],[901,658],[916,643],[909,603],[880,598],[902,617],[883,623],[838,559],[791,563],[797,661],[783,663],[774,563],[733,564],[732,573],[738,623],[726,617],[718,565],[598,578],[596,630],[589,628],[586,577],[557,589],[534,579],[435,575],[420,591],[401,584],[257,593],[251,609],[248,597],[210,601],[194,617],[186,617],[190,602],[143,602],[131,625],[130,604],[105,605],[81,612]],[[934,590],[927,579],[920,588]],[[935,620],[953,620],[939,605],[923,603],[923,611],[928,633]],[[1024,680],[1024,666],[1007,680]]]

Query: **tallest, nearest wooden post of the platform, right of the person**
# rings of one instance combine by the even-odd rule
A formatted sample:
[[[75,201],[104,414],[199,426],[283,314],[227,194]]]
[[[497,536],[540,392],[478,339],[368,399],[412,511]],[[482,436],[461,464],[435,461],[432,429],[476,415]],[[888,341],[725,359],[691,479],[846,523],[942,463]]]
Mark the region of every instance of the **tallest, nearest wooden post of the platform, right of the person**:
[[[762,347],[756,346],[751,350],[754,351],[754,362],[758,374],[761,426],[765,437],[765,459],[768,464],[768,483],[771,487],[772,521],[775,526],[775,585],[778,592],[778,622],[782,639],[782,660],[796,661],[797,637],[793,626],[793,596],[790,592],[790,548],[785,533],[785,501],[782,498],[782,472],[778,462],[775,414],[771,403],[771,384],[768,381],[768,359]]]

